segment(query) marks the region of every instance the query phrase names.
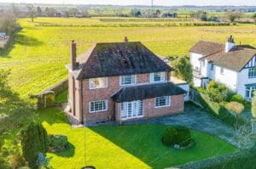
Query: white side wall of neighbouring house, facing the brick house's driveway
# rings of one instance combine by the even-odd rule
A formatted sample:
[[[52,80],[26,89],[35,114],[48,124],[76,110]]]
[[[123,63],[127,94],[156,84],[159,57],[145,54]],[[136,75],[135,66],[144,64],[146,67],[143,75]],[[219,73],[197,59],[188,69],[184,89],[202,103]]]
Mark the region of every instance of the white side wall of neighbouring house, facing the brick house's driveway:
[[[221,74],[220,68],[220,66],[215,65],[215,81],[225,84],[236,92],[237,72],[224,68],[224,74]]]

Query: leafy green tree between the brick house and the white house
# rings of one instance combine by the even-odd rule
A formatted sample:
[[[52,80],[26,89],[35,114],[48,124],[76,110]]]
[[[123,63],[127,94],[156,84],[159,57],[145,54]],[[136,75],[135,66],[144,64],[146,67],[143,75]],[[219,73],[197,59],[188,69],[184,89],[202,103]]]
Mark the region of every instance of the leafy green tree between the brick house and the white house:
[[[192,82],[193,73],[192,66],[189,63],[189,58],[187,56],[178,57],[173,61],[174,72],[173,75],[182,78],[184,81],[189,83]]]

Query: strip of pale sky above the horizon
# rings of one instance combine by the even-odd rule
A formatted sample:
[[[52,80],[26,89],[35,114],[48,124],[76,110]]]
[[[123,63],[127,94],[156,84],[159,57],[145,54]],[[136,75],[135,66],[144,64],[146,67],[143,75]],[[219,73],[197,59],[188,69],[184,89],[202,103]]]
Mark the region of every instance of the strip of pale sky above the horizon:
[[[64,4],[113,4],[113,5],[151,5],[151,0],[0,0],[0,3],[64,3]],[[154,0],[154,5],[247,5],[256,6],[256,0]]]

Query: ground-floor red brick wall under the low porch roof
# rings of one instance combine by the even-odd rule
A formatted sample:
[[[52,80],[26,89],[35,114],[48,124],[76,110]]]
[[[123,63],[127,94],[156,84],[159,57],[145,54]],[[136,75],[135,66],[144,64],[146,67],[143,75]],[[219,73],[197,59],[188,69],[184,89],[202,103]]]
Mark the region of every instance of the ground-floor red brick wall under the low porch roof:
[[[184,109],[183,94],[171,96],[171,105],[167,107],[155,108],[155,99],[143,100],[143,118],[161,115],[177,114]],[[132,119],[129,119],[132,120]],[[129,121],[128,120],[128,121]],[[120,120],[120,104],[116,105],[116,121]]]

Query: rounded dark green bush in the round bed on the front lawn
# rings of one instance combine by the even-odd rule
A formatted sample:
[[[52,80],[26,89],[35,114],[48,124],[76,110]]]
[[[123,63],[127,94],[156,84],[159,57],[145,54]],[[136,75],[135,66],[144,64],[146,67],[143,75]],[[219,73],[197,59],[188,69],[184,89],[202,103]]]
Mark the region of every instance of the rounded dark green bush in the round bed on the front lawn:
[[[189,128],[177,126],[167,127],[162,141],[169,146],[178,144],[181,147],[186,147],[191,144],[192,138]]]

